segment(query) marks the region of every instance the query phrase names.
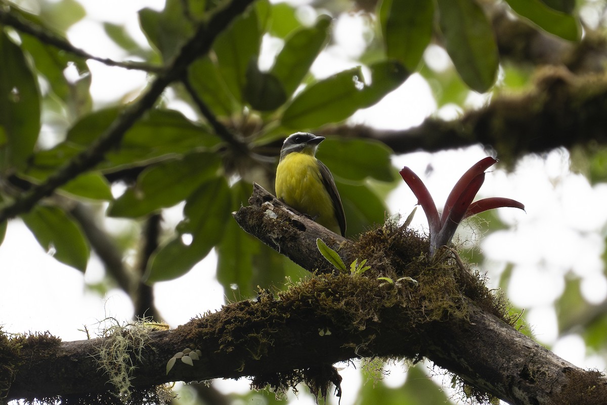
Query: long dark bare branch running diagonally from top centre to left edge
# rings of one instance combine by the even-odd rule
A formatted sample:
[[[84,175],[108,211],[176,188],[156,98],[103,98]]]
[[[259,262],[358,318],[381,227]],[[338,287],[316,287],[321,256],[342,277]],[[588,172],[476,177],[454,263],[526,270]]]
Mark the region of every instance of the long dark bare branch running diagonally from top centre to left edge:
[[[166,86],[172,81],[178,80],[188,65],[198,56],[208,52],[215,36],[222,32],[229,22],[242,13],[251,2],[253,0],[232,0],[215,11],[206,24],[201,24],[198,27],[194,36],[181,48],[171,66],[168,67],[166,72],[158,75],[148,91],[137,102],[119,115],[88,149],[76,155],[70,162],[50,175],[46,182],[33,187],[30,191],[0,209],[0,222],[29,211],[36,202],[49,196],[56,188],[100,163],[106,152],[120,143],[124,133],[131,128],[135,121],[154,106],[155,101]]]

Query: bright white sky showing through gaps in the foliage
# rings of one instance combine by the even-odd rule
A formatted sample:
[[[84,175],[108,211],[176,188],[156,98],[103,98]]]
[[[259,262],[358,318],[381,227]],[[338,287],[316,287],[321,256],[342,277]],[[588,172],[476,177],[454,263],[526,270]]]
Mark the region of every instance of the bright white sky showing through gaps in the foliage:
[[[110,21],[127,24],[141,43],[145,39],[138,29],[137,10],[141,7],[161,9],[163,1],[120,0],[81,1],[89,13],[69,32],[75,46],[99,56],[120,59],[125,55],[107,39],[100,22]],[[120,12],[116,12],[120,10]],[[336,22],[337,43],[322,55],[313,66],[318,77],[326,77],[353,65],[363,36],[352,35],[364,27],[359,16],[347,15]],[[265,50],[276,52],[276,46],[266,44]],[[444,66],[444,52],[431,48],[426,53],[427,63]],[[264,62],[268,64],[267,62]],[[89,62],[92,70],[92,94],[98,105],[116,100],[120,95],[143,88],[146,74],[117,67],[106,67]],[[470,103],[483,98],[471,97]],[[381,128],[403,129],[415,126],[435,112],[436,104],[427,83],[413,75],[399,89],[365,111],[357,112],[353,121]],[[455,111],[456,112],[456,111]],[[446,110],[445,114],[453,114]],[[447,194],[467,168],[485,157],[481,148],[473,147],[429,154],[416,152],[395,157],[396,167],[409,166],[426,183],[435,202],[441,207]],[[499,158],[499,157],[498,157]],[[432,173],[426,175],[431,166]],[[607,185],[590,186],[582,175],[569,171],[569,155],[566,151],[553,151],[545,159],[526,157],[511,173],[496,169],[487,175],[479,198],[487,196],[509,197],[520,200],[526,213],[518,209],[498,209],[500,219],[512,225],[509,230],[490,234],[481,242],[481,249],[488,258],[483,269],[495,285],[507,262],[514,264],[509,286],[509,298],[518,307],[526,308],[524,318],[532,325],[538,341],[554,345],[554,351],[577,366],[605,369],[605,360],[588,355],[583,339],[577,335],[558,339],[554,300],[563,291],[565,274],[582,279],[583,296],[592,303],[607,297],[607,281],[603,274],[600,254],[604,250],[605,224],[607,223]],[[396,190],[388,205],[393,213],[406,217],[416,199],[403,185]],[[422,209],[418,209],[413,226],[427,228]],[[465,237],[469,228],[460,227]],[[467,234],[467,236],[466,236]],[[66,267],[42,251],[27,228],[18,220],[8,225],[7,236],[0,246],[1,277],[0,311],[3,329],[7,332],[49,330],[65,340],[84,339],[79,332],[84,324],[95,329],[95,323],[106,316],[128,321],[132,317],[132,305],[119,290],[110,291],[106,297],[89,293],[85,281],[94,282],[100,277],[100,265],[94,260],[86,277]],[[156,304],[173,327],[190,318],[214,310],[223,303],[222,287],[214,279],[214,254],[180,279],[155,285]],[[277,281],[279,282],[279,281]],[[196,286],[195,288],[192,286]],[[205,290],[200,290],[204,287]],[[184,291],[196,291],[184,294]],[[189,313],[197,308],[195,313]],[[343,370],[345,384],[360,384],[358,371],[348,367]],[[388,383],[402,384],[404,373],[393,372]],[[233,390],[245,381],[218,381],[222,390]],[[356,389],[345,390],[343,405],[356,400]],[[298,403],[312,403],[300,396]]]

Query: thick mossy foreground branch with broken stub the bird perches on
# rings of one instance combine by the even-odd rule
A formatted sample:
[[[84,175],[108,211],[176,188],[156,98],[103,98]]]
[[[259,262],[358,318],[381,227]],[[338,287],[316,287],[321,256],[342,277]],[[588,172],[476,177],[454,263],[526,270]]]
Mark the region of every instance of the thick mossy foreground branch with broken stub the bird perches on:
[[[426,356],[511,404],[604,402],[605,376],[558,358],[499,319],[497,307],[487,304],[489,296],[478,295],[486,287],[478,281],[475,287],[475,277],[456,260],[427,261],[419,249],[428,243],[416,234],[384,227],[352,242],[292,213],[259,186],[250,202],[235,213],[238,222],[308,270],[318,264],[319,274],[276,298],[260,291],[254,301],[225,305],[175,330],[140,332],[143,338],[135,339],[127,352],[137,366],[133,387],[253,376],[255,386],[285,389],[305,381],[326,392],[327,384],[339,384],[334,362]],[[309,248],[319,235],[340,247],[345,262],[365,257],[373,268],[364,275],[331,272],[319,251]],[[418,285],[376,280],[397,265],[402,274],[415,276]],[[453,286],[465,294],[458,296]],[[115,338],[21,343],[19,361],[4,361],[20,363],[7,399],[106,392],[111,389],[108,376],[97,370],[100,348],[111,347]],[[194,366],[177,361],[166,375],[168,360],[185,348],[201,350],[200,359]]]

